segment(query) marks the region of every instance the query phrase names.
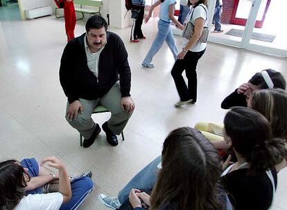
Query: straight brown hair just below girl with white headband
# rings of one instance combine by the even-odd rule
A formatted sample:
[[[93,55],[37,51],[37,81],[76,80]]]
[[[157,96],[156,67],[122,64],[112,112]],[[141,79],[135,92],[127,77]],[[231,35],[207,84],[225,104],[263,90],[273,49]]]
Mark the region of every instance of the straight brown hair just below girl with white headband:
[[[250,108],[264,115],[270,122],[274,137],[287,140],[287,93],[282,89],[256,90]]]

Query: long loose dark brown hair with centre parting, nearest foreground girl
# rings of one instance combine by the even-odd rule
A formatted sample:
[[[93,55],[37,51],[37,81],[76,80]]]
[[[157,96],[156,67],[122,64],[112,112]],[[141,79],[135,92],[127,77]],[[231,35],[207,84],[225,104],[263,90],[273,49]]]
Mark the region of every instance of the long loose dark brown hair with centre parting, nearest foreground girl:
[[[164,141],[151,209],[222,209],[220,165],[216,149],[199,131],[189,127],[172,131]]]

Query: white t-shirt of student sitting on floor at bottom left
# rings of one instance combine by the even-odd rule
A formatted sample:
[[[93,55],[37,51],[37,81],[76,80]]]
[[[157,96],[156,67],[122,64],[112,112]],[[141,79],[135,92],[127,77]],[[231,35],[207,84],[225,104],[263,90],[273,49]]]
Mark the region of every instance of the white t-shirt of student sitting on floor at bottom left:
[[[61,193],[27,195],[14,210],[58,210],[63,203]]]

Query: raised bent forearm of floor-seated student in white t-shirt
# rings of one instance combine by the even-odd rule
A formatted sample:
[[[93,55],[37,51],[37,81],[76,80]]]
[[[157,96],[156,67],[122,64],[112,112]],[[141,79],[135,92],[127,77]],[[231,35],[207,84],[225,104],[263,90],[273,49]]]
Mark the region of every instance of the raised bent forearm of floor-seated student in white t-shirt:
[[[68,202],[71,199],[71,184],[66,167],[60,160],[53,156],[44,158],[41,164],[44,164],[45,162],[49,162],[48,166],[59,170],[59,193],[63,195],[63,203]]]

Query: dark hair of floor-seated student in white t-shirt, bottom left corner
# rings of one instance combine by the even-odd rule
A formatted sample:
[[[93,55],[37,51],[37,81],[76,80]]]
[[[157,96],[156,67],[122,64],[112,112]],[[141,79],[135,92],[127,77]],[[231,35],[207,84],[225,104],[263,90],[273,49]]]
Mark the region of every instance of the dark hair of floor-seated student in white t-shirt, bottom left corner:
[[[14,209],[19,204],[27,186],[25,176],[30,180],[17,160],[0,162],[0,207]]]

